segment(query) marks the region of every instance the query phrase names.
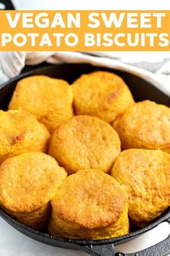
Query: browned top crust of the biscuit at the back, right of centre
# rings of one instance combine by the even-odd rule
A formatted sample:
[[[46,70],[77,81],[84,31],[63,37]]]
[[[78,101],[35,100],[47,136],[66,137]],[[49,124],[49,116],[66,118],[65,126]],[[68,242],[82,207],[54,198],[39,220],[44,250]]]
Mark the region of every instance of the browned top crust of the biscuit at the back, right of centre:
[[[112,107],[112,103],[119,97],[126,85],[116,74],[96,71],[82,74],[72,86],[74,95],[76,95],[74,101],[79,107],[83,108],[82,105],[84,105],[86,110],[103,111]]]

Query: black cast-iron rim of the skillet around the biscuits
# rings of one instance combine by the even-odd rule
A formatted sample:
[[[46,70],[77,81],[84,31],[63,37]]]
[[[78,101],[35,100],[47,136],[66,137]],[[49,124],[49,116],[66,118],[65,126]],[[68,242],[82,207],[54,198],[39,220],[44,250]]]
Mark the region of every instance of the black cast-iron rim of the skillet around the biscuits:
[[[50,67],[54,67],[54,66],[57,67],[58,65],[62,65],[62,64],[55,64],[55,65],[46,64],[45,66],[37,67],[31,71],[24,72],[23,74],[19,74],[17,77],[14,77],[11,80],[9,80],[8,82],[5,82],[4,84],[0,85],[0,90],[2,88],[4,88],[6,85],[9,85],[11,82],[15,82],[17,79],[30,76],[32,74],[32,72],[34,72],[34,71],[39,72],[44,69],[50,69]],[[66,64],[64,64],[64,65],[66,65]],[[70,64],[68,64],[68,65],[70,65]],[[99,68],[102,68],[102,67],[99,67]],[[123,72],[125,72],[125,71],[123,71]],[[125,72],[125,73],[130,74],[130,72]],[[135,74],[133,74],[133,76],[138,77]],[[140,80],[143,80],[143,79],[140,78]],[[151,84],[150,82],[149,82],[149,84],[155,88],[155,86],[153,84]],[[170,101],[170,98],[169,98],[169,101]],[[31,229],[30,227],[25,226],[22,223],[19,223],[18,221],[14,220],[14,218],[12,218],[8,214],[4,213],[3,210],[0,210],[0,216],[7,223],[12,224],[12,226],[14,228],[16,228],[16,229],[19,228],[19,231],[21,231],[21,229],[23,229],[23,230],[28,231],[29,233],[35,234],[35,236],[41,236],[45,239],[50,239],[50,241],[53,240],[53,241],[58,241],[58,242],[63,242],[63,243],[71,243],[71,244],[79,244],[79,245],[89,245],[89,244],[90,245],[102,245],[102,244],[120,244],[121,242],[123,242],[123,240],[127,241],[127,239],[133,239],[133,238],[140,236],[140,234],[146,233],[146,231],[153,229],[154,227],[158,226],[158,224],[163,223],[164,221],[168,221],[168,219],[170,218],[170,208],[168,208],[166,210],[166,213],[163,213],[163,215],[161,217],[157,218],[156,220],[151,222],[148,226],[146,226],[142,229],[138,229],[137,231],[130,232],[129,234],[124,235],[124,236],[117,236],[112,239],[100,239],[100,240],[68,239],[68,238],[60,238],[58,236],[50,236],[50,234],[47,234],[42,231],[37,231],[35,229]]]

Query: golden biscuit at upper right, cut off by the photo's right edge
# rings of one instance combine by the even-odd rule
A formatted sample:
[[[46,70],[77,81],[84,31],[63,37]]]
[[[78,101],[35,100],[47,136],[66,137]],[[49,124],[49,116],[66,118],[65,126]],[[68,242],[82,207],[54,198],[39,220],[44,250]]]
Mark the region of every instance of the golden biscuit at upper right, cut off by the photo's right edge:
[[[142,101],[128,108],[113,124],[122,150],[161,149],[170,153],[170,108],[153,101]]]

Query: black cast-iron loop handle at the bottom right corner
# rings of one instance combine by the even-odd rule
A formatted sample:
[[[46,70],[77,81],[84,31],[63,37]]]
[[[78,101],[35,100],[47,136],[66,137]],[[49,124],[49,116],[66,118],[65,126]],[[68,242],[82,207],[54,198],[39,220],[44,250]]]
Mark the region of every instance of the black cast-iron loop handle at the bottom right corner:
[[[167,220],[170,224],[170,218]],[[89,245],[82,248],[85,252],[94,256],[170,256],[170,234],[162,242],[153,245],[140,252],[123,253],[117,251],[115,244]]]

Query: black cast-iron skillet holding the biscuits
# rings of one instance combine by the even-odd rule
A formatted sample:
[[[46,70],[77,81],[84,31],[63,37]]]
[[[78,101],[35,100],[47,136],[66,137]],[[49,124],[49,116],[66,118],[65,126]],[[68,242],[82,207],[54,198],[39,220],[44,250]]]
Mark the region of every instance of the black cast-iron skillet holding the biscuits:
[[[27,77],[35,74],[45,74],[50,77],[57,77],[63,80],[67,80],[69,83],[76,80],[81,74],[93,72],[95,70],[106,70],[109,72],[114,72],[125,80],[128,84],[131,92],[133,93],[133,97],[135,101],[143,101],[145,99],[149,99],[151,101],[156,101],[156,103],[161,103],[166,106],[170,106],[170,98],[162,93],[160,90],[155,88],[150,83],[142,80],[139,77],[136,77],[133,74],[129,74],[127,72],[106,69],[102,67],[93,67],[90,64],[41,64],[37,67],[31,68],[32,71],[27,71],[27,68],[24,69],[24,74],[20,74],[18,77],[6,82],[4,85],[0,86],[0,109],[6,110],[10,98],[12,97],[12,93],[17,82],[23,77]],[[25,72],[26,71],[26,72]],[[12,225],[15,229],[30,236],[32,239],[35,239],[39,242],[50,244],[55,247],[63,247],[67,249],[80,249],[85,252],[88,252],[90,255],[99,255],[99,256],[163,256],[170,252],[170,235],[163,242],[154,245],[148,249],[144,249],[138,253],[130,253],[123,254],[122,252],[118,252],[115,249],[115,244],[121,244],[124,242],[128,242],[130,239],[133,239],[140,234],[145,233],[148,230],[153,229],[159,223],[164,221],[168,221],[170,223],[170,209],[166,210],[166,212],[158,219],[153,221],[150,225],[146,226],[144,229],[138,229],[131,232],[125,236],[119,236],[114,239],[102,239],[96,241],[88,241],[88,240],[76,240],[76,239],[62,239],[54,236],[50,236],[45,232],[36,231],[34,229],[30,229],[27,226],[22,225],[21,223],[15,221],[13,218],[4,213],[3,210],[0,210],[0,216],[4,218],[6,222]]]

